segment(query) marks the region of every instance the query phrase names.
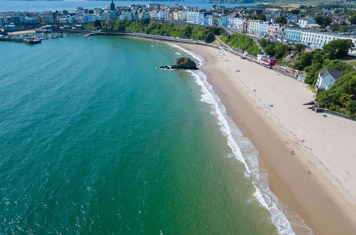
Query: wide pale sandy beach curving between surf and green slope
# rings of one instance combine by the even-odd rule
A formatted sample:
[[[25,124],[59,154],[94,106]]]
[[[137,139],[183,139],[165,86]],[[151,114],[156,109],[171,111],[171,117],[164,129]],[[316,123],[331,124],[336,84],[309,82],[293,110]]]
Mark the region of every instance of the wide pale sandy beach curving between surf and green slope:
[[[206,61],[202,71],[257,148],[278,199],[315,234],[355,234],[356,122],[308,110],[314,94],[298,80],[222,49],[178,46]]]

